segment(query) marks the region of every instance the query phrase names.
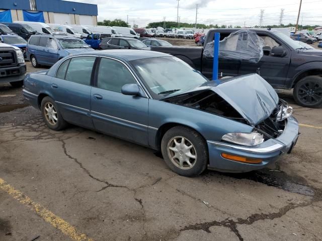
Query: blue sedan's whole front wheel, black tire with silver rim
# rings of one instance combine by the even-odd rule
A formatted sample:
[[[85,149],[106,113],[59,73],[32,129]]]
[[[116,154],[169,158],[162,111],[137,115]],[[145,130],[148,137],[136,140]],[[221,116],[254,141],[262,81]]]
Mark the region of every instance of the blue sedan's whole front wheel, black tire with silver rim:
[[[183,140],[185,145],[181,146]],[[161,151],[169,168],[181,176],[197,176],[208,164],[205,140],[199,133],[187,127],[177,126],[168,130],[162,138]]]

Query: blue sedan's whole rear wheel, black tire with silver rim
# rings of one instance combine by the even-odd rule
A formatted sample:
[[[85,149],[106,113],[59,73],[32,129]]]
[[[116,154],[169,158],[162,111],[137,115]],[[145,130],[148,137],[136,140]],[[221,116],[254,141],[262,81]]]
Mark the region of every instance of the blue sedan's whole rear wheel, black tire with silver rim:
[[[49,107],[51,111],[47,111],[45,107],[46,108]],[[49,127],[49,129],[54,131],[59,131],[66,128],[67,122],[63,119],[57,107],[57,104],[52,98],[50,98],[49,96],[44,97],[41,101],[40,110],[41,110],[42,117],[44,118],[44,121],[47,127]],[[55,113],[52,112],[52,110],[55,111]],[[48,116],[48,114],[50,113],[52,117]],[[56,117],[56,121],[55,121],[55,117]]]

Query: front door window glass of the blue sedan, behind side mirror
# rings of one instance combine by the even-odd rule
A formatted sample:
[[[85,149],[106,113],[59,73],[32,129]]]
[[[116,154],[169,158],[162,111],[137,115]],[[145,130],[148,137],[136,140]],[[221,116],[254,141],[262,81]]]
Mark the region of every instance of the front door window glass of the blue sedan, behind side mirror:
[[[124,84],[135,82],[133,75],[124,64],[112,59],[101,59],[97,79],[98,88],[121,92]]]

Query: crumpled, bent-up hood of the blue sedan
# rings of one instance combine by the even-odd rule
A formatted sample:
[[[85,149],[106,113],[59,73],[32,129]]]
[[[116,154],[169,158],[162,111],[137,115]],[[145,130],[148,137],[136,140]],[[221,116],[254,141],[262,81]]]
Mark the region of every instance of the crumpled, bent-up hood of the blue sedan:
[[[258,74],[223,80],[212,90],[234,107],[252,126],[269,117],[279,101],[273,87]]]

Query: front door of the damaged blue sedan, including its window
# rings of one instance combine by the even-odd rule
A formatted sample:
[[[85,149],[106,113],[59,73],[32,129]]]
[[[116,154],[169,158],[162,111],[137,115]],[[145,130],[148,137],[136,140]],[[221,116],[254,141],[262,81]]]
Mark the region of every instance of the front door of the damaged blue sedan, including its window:
[[[136,83],[126,65],[101,58],[96,87],[91,91],[95,129],[111,136],[147,145],[148,98],[124,95],[124,84]]]

